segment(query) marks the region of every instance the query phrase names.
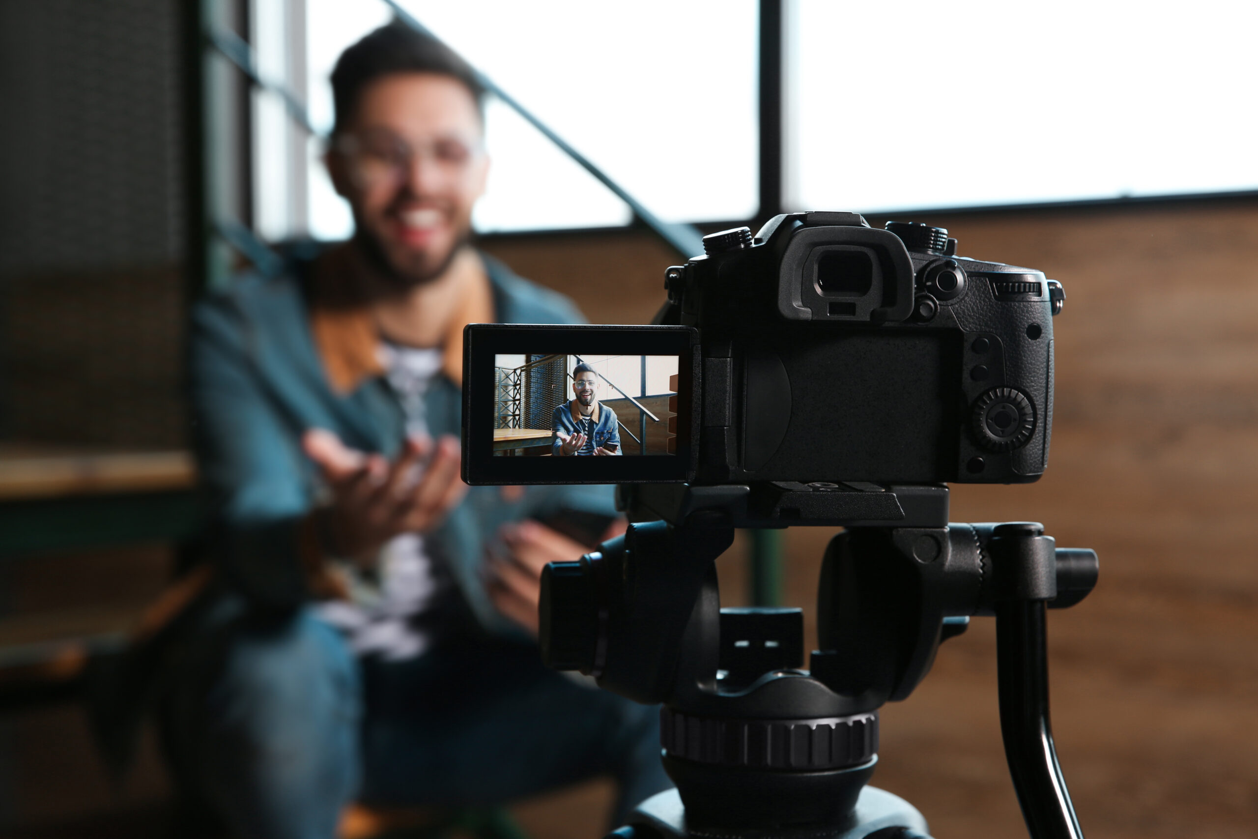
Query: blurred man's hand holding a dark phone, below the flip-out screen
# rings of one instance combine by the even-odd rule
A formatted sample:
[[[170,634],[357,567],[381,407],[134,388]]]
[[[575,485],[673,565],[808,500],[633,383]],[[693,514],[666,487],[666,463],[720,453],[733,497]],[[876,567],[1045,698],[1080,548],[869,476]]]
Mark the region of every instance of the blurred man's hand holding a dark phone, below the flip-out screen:
[[[624,532],[625,522],[619,518],[613,522],[603,538],[606,541]],[[589,550],[532,520],[506,525],[501,535],[506,553],[489,555],[487,566],[489,599],[498,611],[537,635],[537,601],[542,592],[542,569],[547,562],[575,562]]]

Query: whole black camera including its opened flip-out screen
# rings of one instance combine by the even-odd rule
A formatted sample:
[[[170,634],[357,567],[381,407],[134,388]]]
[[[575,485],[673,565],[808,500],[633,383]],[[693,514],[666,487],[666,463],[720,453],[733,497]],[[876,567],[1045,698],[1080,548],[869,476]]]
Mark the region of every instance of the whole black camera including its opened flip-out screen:
[[[667,269],[655,326],[467,327],[464,479],[815,491],[1027,483],[1044,472],[1052,317],[1064,301],[1055,281],[957,257],[940,228],[889,221],[879,230],[854,213],[784,214],[756,235],[725,230],[703,247]],[[512,401],[508,419],[520,418],[541,449],[513,453],[551,450],[548,416],[572,395],[554,382],[533,387],[530,374],[548,362],[566,367],[552,374],[566,384],[582,352],[640,356],[644,370],[648,356],[676,358],[667,387],[648,387],[645,374],[640,387],[635,375],[630,384],[605,377],[624,408],[621,454],[648,457],[501,457],[511,452],[501,426]],[[521,364],[496,361],[504,357]],[[518,409],[527,401],[542,406],[532,410],[538,428]],[[665,421],[672,448],[652,458],[638,431]]]

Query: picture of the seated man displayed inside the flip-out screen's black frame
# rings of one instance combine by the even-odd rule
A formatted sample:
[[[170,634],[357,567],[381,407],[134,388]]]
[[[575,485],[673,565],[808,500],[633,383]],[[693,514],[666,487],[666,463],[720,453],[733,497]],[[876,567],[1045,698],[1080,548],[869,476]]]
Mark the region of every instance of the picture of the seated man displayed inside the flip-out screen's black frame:
[[[494,355],[493,455],[676,455],[678,362],[648,355]]]

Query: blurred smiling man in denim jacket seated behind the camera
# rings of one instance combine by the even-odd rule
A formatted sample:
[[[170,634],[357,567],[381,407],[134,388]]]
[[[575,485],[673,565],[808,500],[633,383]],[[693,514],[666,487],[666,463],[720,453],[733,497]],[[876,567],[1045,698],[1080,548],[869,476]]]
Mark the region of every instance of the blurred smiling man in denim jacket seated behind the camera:
[[[546,670],[528,638],[541,567],[585,550],[541,522],[598,541],[610,488],[458,477],[463,326],[580,314],[468,244],[489,161],[462,60],[395,23],[332,87],[353,239],[194,316],[224,584],[175,674],[174,765],[240,836],[326,839],[355,799],[498,803],[596,774],[619,819],[668,785],[657,711]]]

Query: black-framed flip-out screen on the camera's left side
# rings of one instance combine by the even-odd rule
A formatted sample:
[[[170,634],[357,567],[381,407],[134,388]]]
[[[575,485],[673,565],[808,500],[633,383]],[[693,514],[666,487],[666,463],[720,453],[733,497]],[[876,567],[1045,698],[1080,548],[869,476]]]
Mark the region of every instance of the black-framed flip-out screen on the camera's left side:
[[[684,327],[469,326],[464,481],[684,481],[694,341]]]

